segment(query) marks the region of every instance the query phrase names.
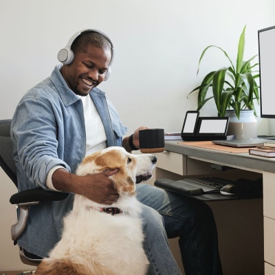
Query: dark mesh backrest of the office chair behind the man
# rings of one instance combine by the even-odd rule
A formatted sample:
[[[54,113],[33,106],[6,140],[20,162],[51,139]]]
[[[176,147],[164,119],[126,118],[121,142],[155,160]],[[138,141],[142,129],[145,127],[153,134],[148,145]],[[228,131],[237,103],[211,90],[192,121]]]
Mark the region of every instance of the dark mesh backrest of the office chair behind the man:
[[[0,166],[17,186],[17,169],[12,156],[10,124],[12,120],[0,120]]]

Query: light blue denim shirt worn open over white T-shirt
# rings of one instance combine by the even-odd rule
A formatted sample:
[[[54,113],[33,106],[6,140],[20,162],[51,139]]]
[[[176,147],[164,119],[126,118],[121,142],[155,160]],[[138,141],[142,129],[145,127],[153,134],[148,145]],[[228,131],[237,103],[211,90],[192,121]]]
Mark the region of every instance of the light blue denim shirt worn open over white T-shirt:
[[[60,69],[56,66],[50,78],[23,96],[12,118],[19,191],[37,186],[47,190],[46,177],[54,166],[61,165],[75,173],[85,157],[83,104],[67,86]],[[96,87],[90,96],[104,125],[107,146],[121,146],[126,127],[118,112],[104,91]],[[38,256],[47,256],[61,238],[62,219],[72,209],[73,201],[74,195],[70,194],[63,201],[33,206],[19,245]]]

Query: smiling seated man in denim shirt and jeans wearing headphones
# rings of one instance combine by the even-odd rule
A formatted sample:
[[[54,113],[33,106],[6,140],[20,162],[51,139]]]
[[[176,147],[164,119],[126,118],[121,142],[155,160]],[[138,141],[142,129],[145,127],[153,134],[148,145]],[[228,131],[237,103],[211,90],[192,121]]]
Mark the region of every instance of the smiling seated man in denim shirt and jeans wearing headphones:
[[[47,257],[61,239],[63,217],[72,209],[74,194],[107,205],[118,199],[109,179],[117,170],[75,175],[85,155],[108,146],[137,150],[138,133],[144,129],[124,137],[126,127],[118,112],[97,87],[111,72],[113,45],[108,36],[97,30],[79,32],[58,58],[63,64],[19,102],[11,129],[19,191],[41,186],[69,192],[63,201],[30,209],[18,243],[40,257]],[[205,203],[147,184],[137,184],[136,192],[143,203],[144,250],[151,263],[148,274],[181,274],[167,236],[179,236],[186,275],[222,274],[216,225]]]

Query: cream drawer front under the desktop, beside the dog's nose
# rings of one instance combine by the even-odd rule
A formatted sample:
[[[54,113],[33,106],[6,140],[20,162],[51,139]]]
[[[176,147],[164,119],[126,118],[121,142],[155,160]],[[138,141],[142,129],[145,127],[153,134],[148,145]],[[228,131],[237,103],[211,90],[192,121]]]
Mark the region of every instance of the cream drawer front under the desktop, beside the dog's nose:
[[[168,170],[178,175],[186,175],[186,155],[164,151],[157,154],[157,168]]]

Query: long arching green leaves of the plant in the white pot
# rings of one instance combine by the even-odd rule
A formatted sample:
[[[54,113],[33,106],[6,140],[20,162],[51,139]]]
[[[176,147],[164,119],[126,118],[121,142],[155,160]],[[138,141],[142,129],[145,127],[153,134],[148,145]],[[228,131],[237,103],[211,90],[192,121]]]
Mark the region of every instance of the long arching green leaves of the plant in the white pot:
[[[243,61],[243,53],[245,50],[245,27],[239,38],[238,53],[236,56],[236,65],[234,66],[228,54],[214,45],[206,47],[201,57],[199,58],[199,65],[201,60],[206,54],[206,51],[210,47],[215,47],[228,58],[230,63],[229,67],[222,67],[217,71],[210,72],[207,74],[199,87],[193,89],[190,94],[198,91],[197,97],[197,111],[199,111],[208,100],[214,98],[214,102],[217,107],[218,116],[225,116],[225,111],[234,110],[236,117],[239,119],[241,110],[253,110],[256,115],[254,108],[254,100],[257,100],[259,104],[259,87],[256,84],[255,79],[259,78],[259,69],[254,71],[254,68],[259,63],[250,62],[257,56],[252,56],[248,61]],[[199,73],[199,66],[197,74]],[[208,89],[212,87],[212,96],[207,97]],[[189,94],[189,95],[190,95]],[[188,96],[189,96],[188,95]]]

